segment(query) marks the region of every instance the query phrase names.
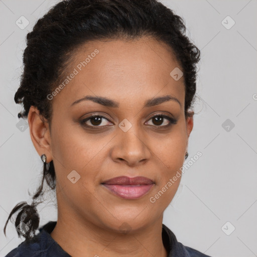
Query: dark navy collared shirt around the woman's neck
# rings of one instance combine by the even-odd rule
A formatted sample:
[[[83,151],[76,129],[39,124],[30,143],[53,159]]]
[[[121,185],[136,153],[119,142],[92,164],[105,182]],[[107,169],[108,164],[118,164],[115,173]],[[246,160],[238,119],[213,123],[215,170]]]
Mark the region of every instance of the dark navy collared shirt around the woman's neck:
[[[41,226],[38,234],[28,242],[21,242],[6,257],[71,257],[50,235],[56,223],[56,221],[49,221]],[[164,224],[162,238],[168,257],[210,257],[178,242],[175,234]]]

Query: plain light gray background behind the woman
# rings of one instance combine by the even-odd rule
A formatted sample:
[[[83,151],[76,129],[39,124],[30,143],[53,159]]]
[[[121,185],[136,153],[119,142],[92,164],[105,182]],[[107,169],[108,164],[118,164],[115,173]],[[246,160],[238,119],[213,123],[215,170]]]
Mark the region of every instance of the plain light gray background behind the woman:
[[[190,38],[201,50],[198,101],[185,163],[198,151],[203,154],[185,170],[163,223],[180,242],[208,255],[257,256],[256,0],[161,2],[185,19]],[[55,3],[0,0],[0,256],[22,241],[13,224],[7,226],[7,237],[3,227],[15,204],[31,203],[28,189],[33,193],[41,178],[41,159],[26,124],[24,131],[17,125],[21,106],[13,98],[25,36]],[[16,25],[21,16],[29,21],[25,29]],[[231,28],[227,16],[235,22]],[[38,206],[40,225],[57,219],[54,203],[49,195]]]

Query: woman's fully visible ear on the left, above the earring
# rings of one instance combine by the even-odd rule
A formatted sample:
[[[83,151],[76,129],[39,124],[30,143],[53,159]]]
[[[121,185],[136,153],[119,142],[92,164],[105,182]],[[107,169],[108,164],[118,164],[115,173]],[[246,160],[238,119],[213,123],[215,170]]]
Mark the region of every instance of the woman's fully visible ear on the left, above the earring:
[[[45,154],[49,163],[53,160],[51,149],[51,138],[49,123],[40,114],[39,110],[35,106],[31,106],[28,113],[28,123],[30,126],[30,136],[35,149],[41,156]]]

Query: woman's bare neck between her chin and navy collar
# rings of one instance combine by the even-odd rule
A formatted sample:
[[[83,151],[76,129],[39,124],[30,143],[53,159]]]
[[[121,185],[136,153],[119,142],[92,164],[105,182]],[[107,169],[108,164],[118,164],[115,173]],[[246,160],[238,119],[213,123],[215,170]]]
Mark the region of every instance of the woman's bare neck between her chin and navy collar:
[[[62,218],[58,214],[51,236],[66,252],[76,257],[116,257],[121,254],[124,257],[167,257],[162,241],[162,220],[163,215],[149,226],[121,233],[96,226],[84,219]]]

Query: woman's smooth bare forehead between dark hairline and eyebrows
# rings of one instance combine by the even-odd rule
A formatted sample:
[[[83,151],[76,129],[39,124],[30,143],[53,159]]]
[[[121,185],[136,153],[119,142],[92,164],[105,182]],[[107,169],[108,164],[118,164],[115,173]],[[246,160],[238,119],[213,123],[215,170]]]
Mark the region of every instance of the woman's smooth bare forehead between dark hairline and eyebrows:
[[[97,95],[133,105],[169,93],[184,104],[183,77],[176,81],[170,75],[178,67],[182,70],[171,48],[149,37],[92,41],[74,51],[65,73],[75,75],[63,83],[55,100],[71,104]]]

